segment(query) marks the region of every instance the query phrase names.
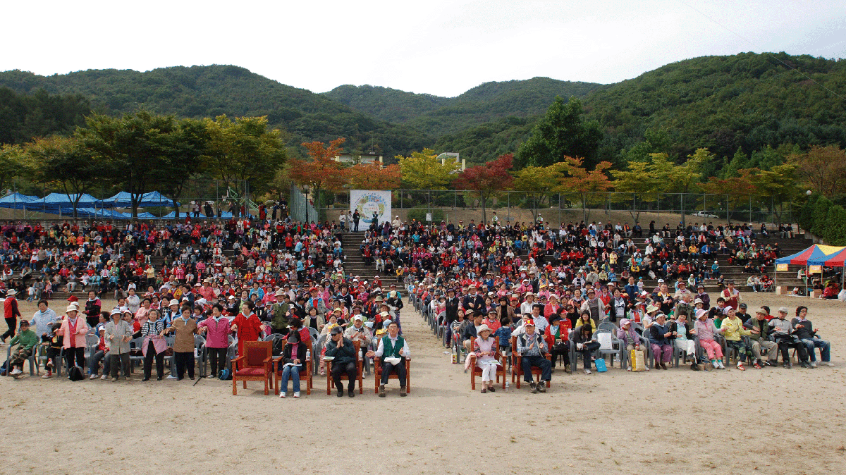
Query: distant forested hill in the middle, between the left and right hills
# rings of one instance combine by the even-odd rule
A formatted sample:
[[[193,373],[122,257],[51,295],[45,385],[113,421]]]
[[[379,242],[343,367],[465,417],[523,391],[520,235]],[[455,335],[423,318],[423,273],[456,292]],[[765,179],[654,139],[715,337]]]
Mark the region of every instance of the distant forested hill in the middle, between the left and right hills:
[[[371,85],[343,85],[325,96],[378,119],[409,123],[433,137],[502,117],[531,117],[547,110],[555,96],[585,97],[601,85],[532,78],[489,82],[456,97],[415,94]]]

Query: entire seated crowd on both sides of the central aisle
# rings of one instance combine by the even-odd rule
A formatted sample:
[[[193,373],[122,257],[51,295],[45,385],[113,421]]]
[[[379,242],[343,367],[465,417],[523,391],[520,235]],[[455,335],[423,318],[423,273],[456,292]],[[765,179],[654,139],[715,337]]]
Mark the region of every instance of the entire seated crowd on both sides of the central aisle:
[[[395,220],[371,225],[360,245],[367,264],[378,266],[387,282],[344,272],[341,232],[334,222],[306,226],[290,219],[188,219],[121,227],[7,223],[0,257],[12,272],[3,281],[9,330],[2,339],[12,336],[16,349],[5,370],[22,374],[25,360],[41,347],[47,356],[45,377],[64,364],[69,374],[87,369],[91,379],[117,381],[129,377],[129,357],[137,353],[143,356],[144,380],[151,379],[153,362],[162,379],[168,354],[175,366],[171,377],[183,379],[187,372],[194,379],[194,336],[201,334],[211,362],[209,377],[215,377],[226,369],[228,352],[241,354],[244,341],[276,334],[287,340],[278,354],[291,364],[280,369],[280,376],[285,386],[294,380],[294,397],[305,370],[306,341],[315,359],[334,358],[338,396],[343,396],[343,375],[349,381],[347,394],[354,395],[354,358],[378,360],[379,396],[384,396],[387,375],[404,373],[410,356],[396,281],[404,282],[401,287],[421,308],[443,315],[446,340],[455,342],[458,352],[472,353],[474,364],[486,367],[484,390],[492,390],[497,350],[524,357],[529,379],[534,367],[548,381],[559,358],[571,371],[573,352],[582,355],[590,373],[596,351],[607,343],[600,341],[600,327],[607,324],[614,327],[613,344],[654,358],[655,369],[666,369],[675,348],[687,353],[691,369],[721,368],[724,350],[738,353],[739,369],[747,362],[756,368],[773,364],[777,352],[785,355],[789,348],[804,367],[816,366],[816,348],[821,361],[830,364],[829,344],[816,336],[806,308],[797,308],[793,319],[787,319],[785,308],[772,316],[766,307],[752,317],[733,281],[721,281],[725,285],[715,299],[705,292],[705,279],[722,277],[716,263],[706,265],[713,254],[732,254],[733,259],[778,255],[777,244],[759,252],[750,227],[658,230],[651,223],[646,232],[639,224],[620,223],[550,228]],[[779,232],[790,231],[782,227]],[[644,239],[645,248],[635,239]],[[154,256],[162,257],[159,270],[153,268]],[[23,276],[20,270],[26,266],[30,274]],[[32,295],[39,310],[32,319],[21,319],[17,298],[28,287],[27,278],[38,280],[32,270],[47,285],[72,291],[80,281],[81,288],[91,290],[84,301],[72,295],[58,316],[49,308],[45,287]],[[645,288],[645,276],[656,278],[658,285]],[[118,303],[102,308],[101,298],[109,292]],[[96,336],[96,344],[89,345],[88,336]],[[498,338],[500,348],[492,348],[492,338]],[[363,348],[360,357],[348,354],[354,341]],[[620,351],[624,360],[627,354]],[[545,390],[529,379],[531,390]],[[404,374],[399,380],[404,396]],[[283,387],[280,396],[287,394]]]

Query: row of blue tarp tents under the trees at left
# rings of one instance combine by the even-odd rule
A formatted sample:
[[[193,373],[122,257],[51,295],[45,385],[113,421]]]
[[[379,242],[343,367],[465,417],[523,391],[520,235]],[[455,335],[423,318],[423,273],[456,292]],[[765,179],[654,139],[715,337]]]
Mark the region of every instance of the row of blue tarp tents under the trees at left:
[[[13,210],[36,211],[52,215],[74,216],[74,201],[76,195],[51,193],[44,198],[29,196],[26,194],[11,193],[0,198],[0,208],[11,208]],[[179,203],[176,204],[179,206]],[[131,208],[132,194],[122,191],[107,199],[96,199],[91,194],[82,194],[77,203],[76,214],[80,217],[103,218],[103,219],[131,219],[132,213],[122,213],[115,208]],[[141,195],[138,202],[139,208],[164,207],[173,208],[173,200],[168,199],[157,191],[151,191]],[[180,213],[181,214],[181,213]],[[169,218],[173,219],[171,212]],[[151,213],[139,213],[140,219],[157,219]]]

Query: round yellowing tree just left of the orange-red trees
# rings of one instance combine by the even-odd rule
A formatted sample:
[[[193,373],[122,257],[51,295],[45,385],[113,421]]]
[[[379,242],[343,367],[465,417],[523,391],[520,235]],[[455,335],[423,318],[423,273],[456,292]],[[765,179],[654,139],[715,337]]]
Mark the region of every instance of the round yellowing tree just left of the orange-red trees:
[[[261,194],[288,158],[282,132],[267,125],[267,117],[225,115],[206,119],[209,144],[206,164],[213,176],[228,187],[245,181]]]

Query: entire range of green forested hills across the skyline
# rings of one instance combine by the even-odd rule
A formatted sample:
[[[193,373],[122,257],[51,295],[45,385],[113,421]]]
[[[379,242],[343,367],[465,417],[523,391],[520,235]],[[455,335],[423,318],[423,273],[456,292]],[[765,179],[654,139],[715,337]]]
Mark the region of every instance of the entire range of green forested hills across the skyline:
[[[0,72],[2,86],[81,94],[93,110],[114,114],[144,107],[179,117],[266,115],[290,134],[291,145],[345,137],[347,150],[386,158],[424,146],[457,151],[475,163],[513,153],[555,96],[581,98],[585,119],[596,120],[604,134],[598,158],[618,166],[637,158],[638,144],[639,153],[664,151],[678,161],[697,147],[718,158],[767,145],[846,148],[846,61],[784,53],[696,57],[613,85],[493,82],[451,98],[372,86],[314,94],[234,66],[49,77],[7,71]],[[643,146],[647,131],[661,143]]]

